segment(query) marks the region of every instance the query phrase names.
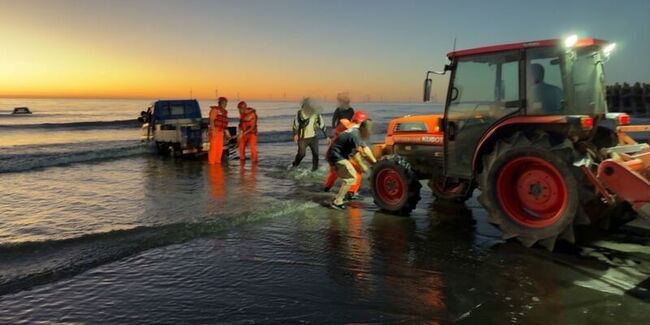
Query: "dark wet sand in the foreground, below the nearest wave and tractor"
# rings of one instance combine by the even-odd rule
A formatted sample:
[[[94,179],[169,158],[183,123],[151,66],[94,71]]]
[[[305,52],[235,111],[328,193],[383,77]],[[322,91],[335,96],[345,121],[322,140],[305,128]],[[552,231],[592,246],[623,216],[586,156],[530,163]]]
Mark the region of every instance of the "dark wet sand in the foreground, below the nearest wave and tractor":
[[[397,217],[298,190],[313,204],[3,295],[0,322],[650,324],[647,233],[549,253],[474,199]]]

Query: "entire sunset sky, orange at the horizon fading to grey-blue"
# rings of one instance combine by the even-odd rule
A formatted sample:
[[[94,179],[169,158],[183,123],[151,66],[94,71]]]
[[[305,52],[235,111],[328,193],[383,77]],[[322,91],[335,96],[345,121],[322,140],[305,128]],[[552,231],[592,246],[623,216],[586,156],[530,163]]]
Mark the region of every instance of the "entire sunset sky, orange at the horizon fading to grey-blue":
[[[609,83],[649,82],[649,18],[647,0],[0,0],[0,96],[418,100],[454,37],[572,33],[617,42]]]

